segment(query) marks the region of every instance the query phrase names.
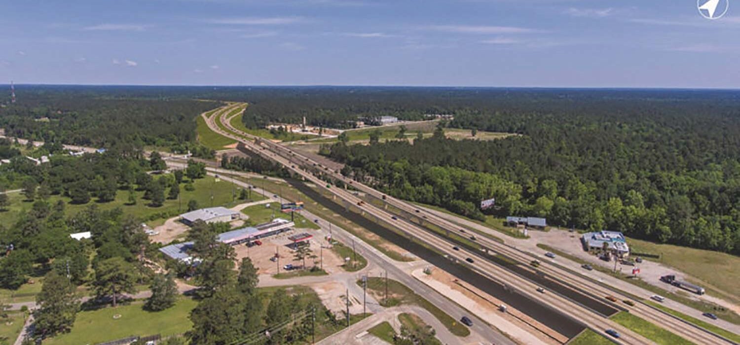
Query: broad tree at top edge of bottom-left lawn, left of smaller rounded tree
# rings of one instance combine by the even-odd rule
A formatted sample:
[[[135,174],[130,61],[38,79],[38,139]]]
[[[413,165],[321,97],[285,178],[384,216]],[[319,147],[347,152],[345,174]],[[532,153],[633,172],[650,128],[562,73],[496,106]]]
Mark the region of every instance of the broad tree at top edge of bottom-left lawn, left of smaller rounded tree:
[[[113,307],[121,293],[135,293],[136,273],[134,267],[121,257],[113,257],[98,263],[95,268],[95,296],[110,296]]]

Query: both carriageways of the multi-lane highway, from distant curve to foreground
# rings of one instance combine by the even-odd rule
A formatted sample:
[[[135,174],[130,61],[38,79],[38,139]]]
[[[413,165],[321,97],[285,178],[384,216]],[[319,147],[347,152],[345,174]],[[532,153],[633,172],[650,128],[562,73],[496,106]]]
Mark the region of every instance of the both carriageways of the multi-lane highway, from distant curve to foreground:
[[[262,140],[258,137],[235,129],[233,126],[231,126],[229,122],[232,117],[236,116],[237,114],[231,115],[229,117],[226,117],[224,115],[230,114],[235,109],[235,106],[238,105],[226,106],[222,109],[219,109],[219,111],[217,112],[213,112],[212,115],[206,119],[206,123],[208,123],[209,127],[212,130],[217,131],[226,137],[231,137],[232,139],[240,141],[241,143],[243,143],[244,146],[246,146],[246,148],[249,148],[250,150],[257,152],[264,157],[281,163],[286,168],[289,168],[295,173],[300,174],[300,176],[306,178],[306,180],[312,181],[318,186],[323,186],[325,184],[325,182],[315,177],[314,174],[307,171],[312,170],[314,165],[319,170],[321,168],[320,165],[315,164],[312,160],[309,160],[308,158],[295,153],[285,146],[280,146],[276,143]],[[255,143],[255,141],[258,141],[259,144]],[[307,167],[307,169],[302,167]],[[370,188],[359,182],[348,180],[335,171],[329,171],[327,169],[320,171],[323,174],[331,176],[335,180],[342,180],[347,184],[351,184],[357,190],[362,191],[363,193],[368,194],[371,197],[381,199],[384,202],[387,202],[388,205],[391,205],[398,210],[406,212],[409,215],[423,216],[425,222],[431,222],[432,224],[446,230],[462,230],[462,228],[460,228],[460,225],[449,222],[447,219],[443,219],[436,214],[425,211],[423,208],[420,209],[415,205],[404,202],[403,200],[383,195],[379,191],[376,191],[373,188]],[[444,238],[444,236],[440,236],[436,233],[431,233],[430,231],[425,230],[422,227],[417,226],[411,222],[398,220],[397,217],[394,217],[393,214],[388,213],[388,211],[377,208],[374,205],[365,204],[363,202],[363,199],[360,199],[360,197],[341,188],[328,188],[328,190],[331,191],[334,196],[339,197],[341,200],[343,200],[343,202],[349,203],[350,205],[361,204],[360,209],[362,209],[364,212],[370,214],[371,216],[374,216],[378,220],[382,220],[383,222],[388,223],[394,228],[398,228],[403,232],[408,233],[409,235],[422,242],[425,242],[428,245],[436,247],[437,250],[446,253],[450,258],[458,260],[459,262],[465,262],[465,260],[468,258],[477,258],[477,256],[480,255],[480,253],[474,253],[474,250],[472,248],[463,247],[461,248],[461,250],[452,250],[451,248],[454,247],[456,244],[454,242],[451,242],[450,239]],[[508,247],[507,245],[502,245],[499,242],[495,242],[491,239],[480,238],[478,240],[478,243],[483,247],[507,256],[510,259],[517,260],[518,262],[528,263],[531,261],[531,259],[533,259],[533,257],[529,253],[524,253],[515,248]],[[498,281],[500,284],[506,284],[510,287],[514,287],[518,290],[520,294],[527,296],[528,298],[541,301],[542,304],[548,305],[554,310],[559,310],[559,312],[562,312],[564,315],[568,315],[569,317],[573,318],[576,321],[579,321],[580,323],[595,330],[596,332],[604,333],[605,329],[616,329],[622,334],[622,338],[620,338],[619,341],[625,344],[644,344],[650,342],[642,336],[630,331],[629,329],[625,329],[619,324],[608,320],[608,318],[605,318],[604,315],[600,315],[599,313],[594,312],[587,307],[583,307],[581,304],[578,304],[569,298],[560,296],[557,293],[536,293],[536,288],[538,286],[533,281],[522,279],[521,276],[517,276],[516,274],[500,267],[497,264],[493,264],[486,260],[479,260],[478,262],[475,262],[470,266],[483,276],[486,276],[493,281]],[[534,270],[534,268],[531,268],[531,270]],[[683,338],[693,341],[696,344],[733,344],[731,341],[727,341],[726,339],[721,338],[712,332],[708,332],[706,329],[696,327],[693,324],[687,324],[687,322],[675,318],[672,315],[668,315],[667,313],[660,310],[656,310],[653,307],[647,306],[647,304],[643,304],[639,300],[634,300],[628,294],[622,294],[619,291],[604,287],[601,284],[598,284],[596,281],[591,281],[580,275],[575,275],[570,270],[560,267],[557,264],[551,264],[545,261],[536,270],[539,271],[538,273],[540,274],[545,274],[546,276],[554,279],[555,281],[558,281],[559,283],[568,285],[594,298],[615,296],[620,301],[617,302],[614,307],[626,308],[633,314],[638,315],[639,317],[644,318],[645,320],[650,321],[651,323],[656,324],[659,327],[669,329],[671,332],[681,335]],[[633,307],[628,307],[626,304],[621,304],[621,301],[625,300],[633,301],[635,305]]]

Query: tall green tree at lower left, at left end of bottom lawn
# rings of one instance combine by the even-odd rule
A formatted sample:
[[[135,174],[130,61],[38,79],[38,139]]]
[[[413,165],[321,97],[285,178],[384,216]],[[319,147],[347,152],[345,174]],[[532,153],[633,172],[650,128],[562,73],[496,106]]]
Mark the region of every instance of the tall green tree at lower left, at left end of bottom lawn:
[[[75,286],[65,276],[54,270],[47,273],[41,293],[36,296],[36,304],[38,309],[33,312],[34,335],[47,338],[72,329],[79,303]]]

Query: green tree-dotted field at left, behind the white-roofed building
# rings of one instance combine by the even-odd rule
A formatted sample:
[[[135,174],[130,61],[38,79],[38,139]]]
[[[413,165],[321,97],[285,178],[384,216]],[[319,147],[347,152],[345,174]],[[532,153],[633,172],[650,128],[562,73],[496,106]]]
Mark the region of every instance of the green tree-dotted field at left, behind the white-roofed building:
[[[231,205],[232,202],[232,184],[225,181],[215,182],[213,177],[206,176],[202,179],[195,180],[193,182],[195,191],[186,191],[184,185],[180,186],[180,200],[167,199],[164,205],[158,208],[149,207],[147,204],[148,200],[141,199],[144,196],[144,191],[136,191],[137,202],[136,205],[127,205],[128,202],[128,191],[118,191],[115,200],[112,202],[95,202],[95,199],[88,202],[85,205],[75,205],[70,203],[70,198],[53,195],[49,198],[49,202],[53,205],[57,200],[63,200],[67,203],[65,208],[66,214],[75,214],[79,211],[84,210],[90,205],[97,205],[101,210],[110,210],[112,208],[120,207],[124,214],[131,214],[143,219],[145,221],[153,219],[166,219],[171,216],[176,216],[187,211],[187,203],[190,199],[195,199],[201,208],[219,205]],[[211,202],[211,195],[213,196],[213,202]],[[261,196],[253,194],[255,200],[261,199]],[[8,211],[0,212],[0,224],[14,224],[18,215],[22,210],[30,210],[33,202],[25,202],[24,197],[19,193],[10,194],[10,208]],[[239,201],[237,201],[239,202]]]

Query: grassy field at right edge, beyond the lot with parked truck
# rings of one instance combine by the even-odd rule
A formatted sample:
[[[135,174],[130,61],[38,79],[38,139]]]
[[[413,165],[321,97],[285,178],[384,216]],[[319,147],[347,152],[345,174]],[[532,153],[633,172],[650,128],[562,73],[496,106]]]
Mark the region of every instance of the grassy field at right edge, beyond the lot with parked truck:
[[[660,254],[660,259],[650,259],[674,267],[693,278],[699,284],[709,287],[708,293],[721,290],[723,298],[733,303],[740,303],[740,257],[711,250],[679,247],[677,245],[659,245],[639,239],[628,239],[633,253]],[[729,294],[729,296],[728,296]]]

